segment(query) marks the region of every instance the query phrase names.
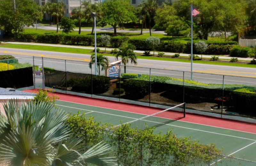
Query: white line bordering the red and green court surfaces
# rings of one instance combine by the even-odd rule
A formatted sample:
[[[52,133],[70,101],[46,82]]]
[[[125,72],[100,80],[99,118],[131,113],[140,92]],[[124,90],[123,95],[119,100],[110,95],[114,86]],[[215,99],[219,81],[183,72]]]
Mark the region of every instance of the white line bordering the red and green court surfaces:
[[[59,100],[59,101],[68,102],[68,101],[64,101],[64,100]],[[104,109],[110,109],[110,108],[105,108],[105,107],[99,107],[99,106],[89,105],[89,104],[81,104],[81,103],[77,103],[77,102],[71,102],[71,103],[80,104],[80,105],[88,105],[88,106],[98,107],[98,108],[104,108]],[[65,107],[65,106],[64,106],[64,107]],[[142,106],[142,107],[143,107],[143,106]],[[129,111],[124,111],[124,110],[119,110],[119,109],[112,109],[112,110],[117,110],[117,111],[122,111],[122,112],[129,112]],[[146,115],[146,116],[147,116],[147,114],[134,113],[134,112],[129,112],[129,113],[139,114],[139,115]],[[161,118],[168,119],[168,118],[165,118],[165,117],[161,117]],[[178,120],[178,121],[180,121],[180,120]],[[186,121],[181,121],[181,122],[192,123],[192,124],[198,124],[198,125],[202,125],[202,126],[215,127],[215,128],[225,129],[225,130],[232,130],[232,131],[236,131],[236,132],[244,132],[244,131],[240,131],[240,130],[227,129],[227,128],[224,128],[224,127],[211,126],[211,125],[207,125],[207,124],[200,124],[200,123],[186,122]],[[253,132],[245,132],[245,133],[250,133],[250,134],[254,134],[254,135],[256,134],[256,133],[253,133]]]

